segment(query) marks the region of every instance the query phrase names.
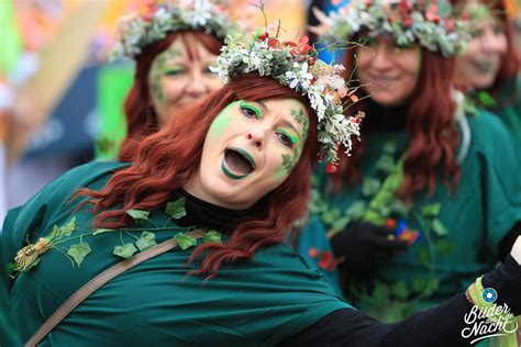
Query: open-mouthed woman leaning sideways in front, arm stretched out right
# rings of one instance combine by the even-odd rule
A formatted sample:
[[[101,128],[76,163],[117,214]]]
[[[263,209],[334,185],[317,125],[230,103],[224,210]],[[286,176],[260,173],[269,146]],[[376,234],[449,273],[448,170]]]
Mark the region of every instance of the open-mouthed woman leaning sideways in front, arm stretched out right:
[[[393,325],[343,302],[286,243],[318,155],[336,163],[358,134],[361,115],[333,94],[347,92],[339,67],[315,57],[306,37],[234,36],[219,58],[228,83],[136,144],[132,163],[76,168],[10,212],[27,346],[466,345],[481,286],[512,328],[521,239],[468,296]]]

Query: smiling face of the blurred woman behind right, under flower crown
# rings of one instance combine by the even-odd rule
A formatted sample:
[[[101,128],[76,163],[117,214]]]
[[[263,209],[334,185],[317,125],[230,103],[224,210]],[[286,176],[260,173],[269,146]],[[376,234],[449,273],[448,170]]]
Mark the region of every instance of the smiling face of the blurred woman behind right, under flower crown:
[[[365,46],[357,48],[361,85],[379,104],[401,104],[418,82],[420,47],[399,48],[387,37],[368,37]]]

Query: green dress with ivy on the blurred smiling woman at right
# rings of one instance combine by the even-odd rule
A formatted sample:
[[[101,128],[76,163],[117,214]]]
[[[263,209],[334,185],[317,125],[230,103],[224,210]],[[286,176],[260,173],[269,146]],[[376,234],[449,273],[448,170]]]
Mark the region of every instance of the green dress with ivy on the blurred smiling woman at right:
[[[379,264],[370,281],[346,280],[346,299],[358,310],[398,321],[465,291],[497,264],[499,243],[521,221],[521,163],[497,116],[481,111],[467,120],[472,141],[454,193],[439,180],[435,193],[417,195],[411,209],[399,199],[377,204],[383,215],[403,221],[420,237],[404,254]],[[326,179],[319,183],[320,199],[311,210],[326,230],[342,230],[367,215],[369,201],[398,167],[408,135],[370,132],[365,142],[361,183],[339,193],[331,193]],[[302,237],[317,237],[315,231],[304,228]]]

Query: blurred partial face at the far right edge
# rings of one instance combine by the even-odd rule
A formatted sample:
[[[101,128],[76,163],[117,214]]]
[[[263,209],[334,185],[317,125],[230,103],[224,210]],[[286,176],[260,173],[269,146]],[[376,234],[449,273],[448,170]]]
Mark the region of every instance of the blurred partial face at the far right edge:
[[[470,43],[456,59],[456,81],[470,89],[488,89],[507,54],[507,35],[503,25],[484,4],[472,3],[469,7],[483,15],[476,21]]]

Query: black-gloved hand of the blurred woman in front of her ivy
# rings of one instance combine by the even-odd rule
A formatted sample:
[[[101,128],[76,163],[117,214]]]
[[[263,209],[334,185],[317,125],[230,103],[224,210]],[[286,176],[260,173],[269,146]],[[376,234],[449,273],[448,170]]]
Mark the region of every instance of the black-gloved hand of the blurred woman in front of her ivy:
[[[370,273],[387,257],[404,251],[407,240],[393,238],[393,231],[370,223],[351,224],[331,239],[335,258],[344,258],[342,267],[355,276]]]

